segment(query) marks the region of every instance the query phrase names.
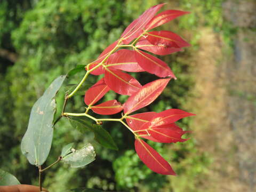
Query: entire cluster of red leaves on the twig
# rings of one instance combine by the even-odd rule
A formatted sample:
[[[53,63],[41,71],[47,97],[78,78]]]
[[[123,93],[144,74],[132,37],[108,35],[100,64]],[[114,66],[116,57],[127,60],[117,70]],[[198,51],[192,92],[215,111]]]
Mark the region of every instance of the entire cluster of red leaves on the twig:
[[[180,109],[168,109],[161,113],[147,112],[129,115],[153,102],[162,93],[170,78],[158,79],[142,86],[137,79],[123,72],[147,71],[158,77],[176,78],[164,61],[141,51],[166,55],[182,51],[182,47],[190,46],[179,35],[171,31],[149,31],[188,13],[167,10],[155,15],[163,5],[155,5],[145,11],[124,30],[120,39],[109,45],[97,60],[89,64],[86,69],[90,69],[91,74],[105,74],[105,77],[86,91],[84,101],[95,113],[101,115],[111,115],[124,110],[126,122],[136,135],[135,150],[142,162],[154,172],[175,175],[170,164],[140,137],[164,143],[186,141],[187,139],[181,137],[187,131],[183,131],[175,122],[194,114]],[[121,49],[110,54],[118,49],[119,45],[125,46],[135,38],[138,38],[136,44],[133,45],[134,42],[130,45],[133,50]],[[109,90],[130,95],[130,97],[123,105],[116,100],[94,105]]]

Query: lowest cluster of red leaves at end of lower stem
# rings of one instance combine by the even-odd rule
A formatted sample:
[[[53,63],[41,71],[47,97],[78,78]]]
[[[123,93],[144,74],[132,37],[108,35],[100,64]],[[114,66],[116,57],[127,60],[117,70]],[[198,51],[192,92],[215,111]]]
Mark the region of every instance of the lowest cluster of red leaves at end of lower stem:
[[[192,115],[194,114],[180,109],[168,109],[161,113],[147,112],[127,116],[126,122],[142,138],[163,143],[183,142],[187,139],[181,137],[187,131],[183,131],[175,122]],[[156,150],[138,137],[135,139],[135,150],[141,161],[149,169],[159,174],[175,175],[171,165]]]

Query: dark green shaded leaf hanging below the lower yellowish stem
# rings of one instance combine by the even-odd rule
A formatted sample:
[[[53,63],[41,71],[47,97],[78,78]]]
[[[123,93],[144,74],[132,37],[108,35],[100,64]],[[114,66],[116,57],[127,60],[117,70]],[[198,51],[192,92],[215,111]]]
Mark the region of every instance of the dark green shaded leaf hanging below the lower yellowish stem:
[[[105,129],[103,129],[101,125],[92,124],[89,121],[76,117],[69,118],[69,122],[75,129],[78,129],[82,133],[93,132],[94,139],[103,147],[118,150],[118,147],[116,146],[116,143],[111,135]]]

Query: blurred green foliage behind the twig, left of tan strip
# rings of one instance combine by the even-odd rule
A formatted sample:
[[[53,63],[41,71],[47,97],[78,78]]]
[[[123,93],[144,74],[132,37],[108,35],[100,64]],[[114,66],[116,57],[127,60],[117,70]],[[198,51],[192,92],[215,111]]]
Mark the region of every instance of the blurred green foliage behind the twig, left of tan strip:
[[[12,62],[0,55],[0,167],[14,174],[22,183],[37,185],[37,169],[21,155],[20,142],[27,129],[31,107],[50,85],[52,80],[68,73],[77,65],[86,65],[113,43],[129,23],[143,10],[162,1],[114,1],[114,0],[23,0],[0,2],[0,48],[18,55]],[[170,1],[172,3],[172,1]],[[199,25],[221,30],[221,0],[179,1],[180,10],[191,11],[178,19],[173,30],[178,34],[190,33],[189,41],[197,47],[200,37]],[[168,25],[168,24],[167,24]],[[165,25],[165,27],[167,26]],[[189,76],[191,55],[196,49],[167,55],[164,60],[177,74],[163,94],[141,111],[162,111],[168,108],[186,110],[186,100],[193,88]],[[83,71],[68,79],[76,84]],[[150,74],[138,74],[142,84],[154,80]],[[93,84],[99,77],[91,76],[87,83]],[[118,97],[114,92],[107,99]],[[124,102],[127,97],[118,99]],[[60,111],[63,93],[57,96]],[[68,103],[67,111],[84,110],[83,97],[78,95]],[[58,113],[59,113],[58,111]],[[190,118],[180,122],[189,129]],[[196,140],[163,145],[149,142],[167,161],[171,162],[178,177],[159,175],[150,171],[134,152],[134,139],[129,130],[118,123],[104,126],[115,139],[119,151],[108,150],[92,141],[92,135],[74,130],[63,118],[54,130],[53,146],[46,165],[54,162],[61,148],[69,142],[82,147],[92,141],[97,153],[96,160],[83,169],[70,169],[59,164],[44,175],[43,186],[50,191],[90,187],[103,190],[129,191],[197,191],[201,178],[207,172],[211,159],[199,152]],[[193,138],[193,135],[190,136]],[[45,166],[46,166],[45,165]]]

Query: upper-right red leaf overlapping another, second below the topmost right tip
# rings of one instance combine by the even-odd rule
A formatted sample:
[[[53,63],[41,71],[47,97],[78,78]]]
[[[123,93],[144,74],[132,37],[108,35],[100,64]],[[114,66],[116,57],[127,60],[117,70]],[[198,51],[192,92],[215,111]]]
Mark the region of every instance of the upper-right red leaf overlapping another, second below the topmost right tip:
[[[190,44],[179,35],[171,31],[151,31],[147,33],[147,35],[147,40],[153,45],[163,45],[176,48],[190,46]]]

